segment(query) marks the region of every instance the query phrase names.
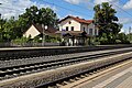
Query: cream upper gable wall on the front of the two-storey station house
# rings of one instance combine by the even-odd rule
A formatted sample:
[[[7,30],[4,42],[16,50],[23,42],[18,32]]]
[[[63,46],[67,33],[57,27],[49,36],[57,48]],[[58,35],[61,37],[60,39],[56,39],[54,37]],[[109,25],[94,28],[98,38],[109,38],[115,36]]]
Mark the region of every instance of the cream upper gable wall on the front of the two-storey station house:
[[[72,22],[70,24],[69,21]],[[66,26],[68,26],[68,31],[72,31],[72,26],[74,26],[74,31],[80,31],[80,23],[73,19],[67,19],[63,21],[59,25],[59,31],[62,31],[62,29],[66,30]]]

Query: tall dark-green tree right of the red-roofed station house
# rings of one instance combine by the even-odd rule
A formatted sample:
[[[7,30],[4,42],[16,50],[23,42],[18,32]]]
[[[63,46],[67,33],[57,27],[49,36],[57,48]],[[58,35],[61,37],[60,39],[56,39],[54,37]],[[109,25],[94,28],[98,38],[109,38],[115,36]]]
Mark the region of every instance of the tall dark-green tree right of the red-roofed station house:
[[[95,10],[95,24],[99,28],[99,36],[106,33],[109,42],[116,41],[117,34],[120,32],[122,24],[117,23],[117,11],[108,2],[97,4]],[[112,38],[111,38],[112,37]],[[114,38],[113,38],[114,37]]]

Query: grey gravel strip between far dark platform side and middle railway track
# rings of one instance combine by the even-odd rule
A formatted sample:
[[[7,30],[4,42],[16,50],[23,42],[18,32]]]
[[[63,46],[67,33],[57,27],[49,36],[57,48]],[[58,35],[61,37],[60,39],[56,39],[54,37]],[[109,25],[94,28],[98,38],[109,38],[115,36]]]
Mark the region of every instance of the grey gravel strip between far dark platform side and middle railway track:
[[[112,50],[116,52],[131,52],[132,48],[122,48],[122,50]],[[42,63],[51,63],[56,61],[64,61],[64,59],[75,59],[75,58],[82,58],[89,57],[99,54],[107,54],[112,53],[112,51],[98,51],[98,52],[84,52],[84,53],[75,53],[75,54],[64,54],[64,55],[53,55],[53,56],[40,56],[40,57],[26,57],[26,58],[18,58],[8,61],[0,61],[0,69],[2,68],[10,68],[10,67],[18,67],[18,66],[26,66],[26,65],[34,65],[34,64],[42,64]],[[122,52],[123,53],[123,52]]]

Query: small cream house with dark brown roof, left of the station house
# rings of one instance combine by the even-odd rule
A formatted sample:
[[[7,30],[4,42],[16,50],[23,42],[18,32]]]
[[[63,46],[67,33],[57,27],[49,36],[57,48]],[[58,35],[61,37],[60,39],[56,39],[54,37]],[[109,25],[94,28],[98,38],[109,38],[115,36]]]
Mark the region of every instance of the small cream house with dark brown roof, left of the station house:
[[[23,36],[31,38],[34,38],[35,36],[40,34],[45,34],[45,35],[54,35],[57,30],[51,26],[47,26],[47,29],[43,29],[41,24],[32,24],[30,29],[28,29],[24,33]]]

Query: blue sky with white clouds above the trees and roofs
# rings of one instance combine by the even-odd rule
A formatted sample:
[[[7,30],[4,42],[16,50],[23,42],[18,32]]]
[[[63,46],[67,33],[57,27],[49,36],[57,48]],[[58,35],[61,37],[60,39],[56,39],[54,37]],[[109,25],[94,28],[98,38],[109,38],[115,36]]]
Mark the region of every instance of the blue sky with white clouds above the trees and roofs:
[[[31,6],[53,9],[59,19],[67,15],[92,20],[94,6],[109,2],[117,10],[119,23],[123,24],[121,32],[129,32],[132,28],[132,0],[0,0],[0,13],[4,19],[18,18]]]

